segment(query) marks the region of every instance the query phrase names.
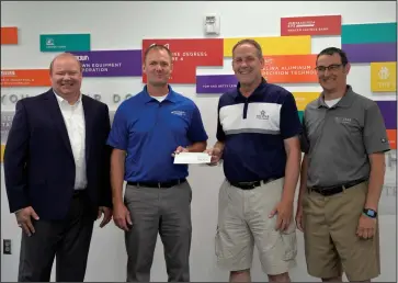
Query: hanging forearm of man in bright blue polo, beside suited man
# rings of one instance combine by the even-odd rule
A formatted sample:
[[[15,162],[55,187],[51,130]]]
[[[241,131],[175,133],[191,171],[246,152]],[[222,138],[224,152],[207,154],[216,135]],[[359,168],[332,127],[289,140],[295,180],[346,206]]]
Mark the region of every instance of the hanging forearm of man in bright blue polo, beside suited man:
[[[111,186],[113,205],[123,202],[125,154],[114,149],[111,156]]]

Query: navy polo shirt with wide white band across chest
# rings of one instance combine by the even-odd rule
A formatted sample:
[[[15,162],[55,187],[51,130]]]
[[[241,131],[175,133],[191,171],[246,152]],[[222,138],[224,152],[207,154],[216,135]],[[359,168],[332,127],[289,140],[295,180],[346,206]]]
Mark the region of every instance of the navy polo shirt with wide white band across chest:
[[[284,139],[300,134],[295,99],[265,80],[249,97],[237,89],[218,101],[217,139],[225,143],[224,172],[230,182],[285,176]]]

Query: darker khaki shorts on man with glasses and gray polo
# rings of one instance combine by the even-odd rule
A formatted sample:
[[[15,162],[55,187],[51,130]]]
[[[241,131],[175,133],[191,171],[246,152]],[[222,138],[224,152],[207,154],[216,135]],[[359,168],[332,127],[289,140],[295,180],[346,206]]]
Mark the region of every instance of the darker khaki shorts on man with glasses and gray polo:
[[[378,225],[372,239],[355,233],[365,205],[367,182],[331,196],[307,192],[303,199],[308,273],[316,278],[371,280],[380,274]]]

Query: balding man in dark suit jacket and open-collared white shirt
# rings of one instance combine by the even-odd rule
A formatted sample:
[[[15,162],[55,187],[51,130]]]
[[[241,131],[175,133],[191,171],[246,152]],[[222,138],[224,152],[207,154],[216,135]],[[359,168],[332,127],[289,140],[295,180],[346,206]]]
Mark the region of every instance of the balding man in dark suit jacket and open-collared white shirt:
[[[20,100],[4,151],[11,213],[22,228],[19,281],[84,280],[94,220],[112,218],[109,109],[80,93],[71,54],[50,65],[52,89]]]

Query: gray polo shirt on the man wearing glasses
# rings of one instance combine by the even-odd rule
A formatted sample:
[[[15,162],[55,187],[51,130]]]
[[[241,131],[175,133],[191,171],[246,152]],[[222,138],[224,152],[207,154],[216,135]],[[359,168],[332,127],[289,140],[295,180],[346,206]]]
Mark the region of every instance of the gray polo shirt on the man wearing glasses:
[[[375,101],[348,86],[332,107],[322,94],[304,112],[302,151],[308,156],[310,186],[329,186],[367,179],[368,155],[388,151],[387,131]]]

